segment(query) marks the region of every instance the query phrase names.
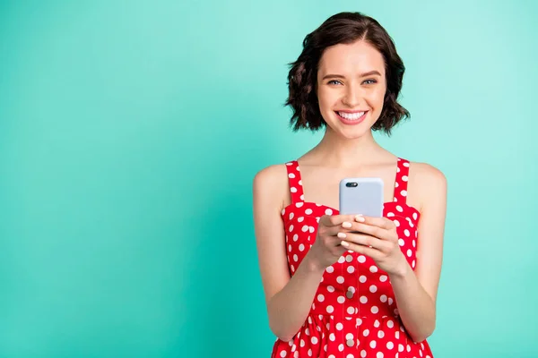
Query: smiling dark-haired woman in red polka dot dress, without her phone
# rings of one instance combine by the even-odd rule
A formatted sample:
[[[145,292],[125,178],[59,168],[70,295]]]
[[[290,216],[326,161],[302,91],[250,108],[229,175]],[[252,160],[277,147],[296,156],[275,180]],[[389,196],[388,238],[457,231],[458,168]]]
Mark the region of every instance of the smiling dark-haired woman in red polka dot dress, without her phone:
[[[447,181],[372,135],[409,115],[396,101],[404,64],[361,13],[332,16],[303,47],[289,73],[291,124],[325,135],[253,183],[272,356],[432,357]],[[383,217],[339,215],[338,183],[358,176],[385,183]]]

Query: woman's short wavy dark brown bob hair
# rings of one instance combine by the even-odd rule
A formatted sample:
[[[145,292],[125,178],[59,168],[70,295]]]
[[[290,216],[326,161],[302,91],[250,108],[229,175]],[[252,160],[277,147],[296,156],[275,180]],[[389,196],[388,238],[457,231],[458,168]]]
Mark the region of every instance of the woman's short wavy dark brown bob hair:
[[[326,126],[319,112],[316,95],[318,64],[325,48],[337,44],[351,44],[360,39],[376,47],[385,60],[385,101],[372,130],[382,130],[390,135],[395,124],[410,116],[396,101],[402,89],[405,66],[396,52],[393,39],[369,16],[362,13],[336,13],[304,38],[299,58],[289,64],[289,96],[284,105],[292,109],[291,127],[294,132],[299,129],[316,132]]]

